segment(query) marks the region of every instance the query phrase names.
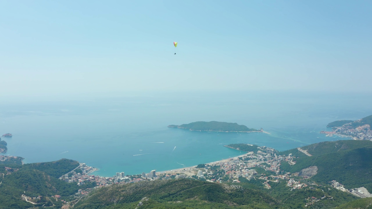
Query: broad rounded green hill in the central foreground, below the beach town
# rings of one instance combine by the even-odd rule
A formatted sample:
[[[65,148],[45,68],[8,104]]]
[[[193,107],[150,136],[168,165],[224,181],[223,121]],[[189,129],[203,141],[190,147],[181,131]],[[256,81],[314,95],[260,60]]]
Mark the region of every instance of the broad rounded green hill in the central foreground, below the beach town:
[[[148,197],[163,208],[276,208],[279,203],[259,190],[191,179],[142,181],[97,189],[74,208],[132,208]],[[176,205],[174,205],[177,203]],[[208,204],[206,204],[208,203]],[[202,205],[205,206],[202,206]],[[152,208],[154,205],[143,207]],[[165,207],[167,205],[167,207]],[[173,206],[172,206],[173,205]],[[177,206],[177,207],[174,207]],[[134,207],[135,208],[135,207]]]

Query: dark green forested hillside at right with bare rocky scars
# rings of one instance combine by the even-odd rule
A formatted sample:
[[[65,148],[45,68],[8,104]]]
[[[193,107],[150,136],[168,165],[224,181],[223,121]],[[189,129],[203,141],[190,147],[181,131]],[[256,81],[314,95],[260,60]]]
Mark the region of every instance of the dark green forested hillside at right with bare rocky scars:
[[[313,156],[299,154],[296,149],[280,152],[288,155],[291,152],[297,157],[295,165],[282,163],[281,170],[291,173],[299,172],[310,166],[317,166],[318,173],[312,180],[329,184],[336,180],[346,188],[366,187],[372,190],[372,142],[357,140],[340,140],[335,142],[320,142],[302,147]],[[330,169],[331,168],[331,169]]]

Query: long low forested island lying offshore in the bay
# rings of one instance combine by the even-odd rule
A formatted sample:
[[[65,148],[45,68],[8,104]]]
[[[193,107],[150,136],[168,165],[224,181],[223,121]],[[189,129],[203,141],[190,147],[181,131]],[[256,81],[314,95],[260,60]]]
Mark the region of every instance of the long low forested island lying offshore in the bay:
[[[248,128],[245,125],[238,125],[238,123],[227,123],[227,122],[217,122],[217,121],[198,121],[189,124],[182,125],[169,125],[169,128],[183,128],[189,129],[190,131],[221,131],[221,132],[263,132],[263,129],[257,130],[254,128]]]

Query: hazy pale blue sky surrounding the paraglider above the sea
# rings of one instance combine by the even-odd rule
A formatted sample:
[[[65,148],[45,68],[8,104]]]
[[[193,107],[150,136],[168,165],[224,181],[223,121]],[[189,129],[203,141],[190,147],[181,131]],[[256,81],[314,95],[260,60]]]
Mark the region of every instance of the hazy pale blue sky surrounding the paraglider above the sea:
[[[0,95],[370,91],[371,20],[369,0],[0,1]]]

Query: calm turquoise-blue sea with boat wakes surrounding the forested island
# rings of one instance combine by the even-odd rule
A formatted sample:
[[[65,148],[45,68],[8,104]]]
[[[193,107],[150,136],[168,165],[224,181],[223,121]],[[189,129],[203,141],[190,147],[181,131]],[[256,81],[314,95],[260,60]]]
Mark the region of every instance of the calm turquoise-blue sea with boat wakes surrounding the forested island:
[[[334,120],[372,115],[371,93],[225,91],[11,97],[0,104],[6,155],[37,163],[68,158],[114,176],[165,171],[235,157],[223,145],[245,143],[284,151],[348,138],[327,137]],[[266,133],[168,128],[221,121]]]

